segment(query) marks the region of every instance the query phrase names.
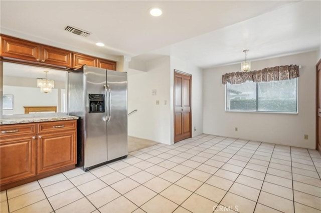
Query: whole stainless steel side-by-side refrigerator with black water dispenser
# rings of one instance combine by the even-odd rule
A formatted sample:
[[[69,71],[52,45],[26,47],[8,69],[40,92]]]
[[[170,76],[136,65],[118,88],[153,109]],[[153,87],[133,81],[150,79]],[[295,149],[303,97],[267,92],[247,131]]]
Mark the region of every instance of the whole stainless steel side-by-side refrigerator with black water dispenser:
[[[70,70],[68,112],[79,117],[79,167],[88,171],[127,156],[127,72],[87,65]]]

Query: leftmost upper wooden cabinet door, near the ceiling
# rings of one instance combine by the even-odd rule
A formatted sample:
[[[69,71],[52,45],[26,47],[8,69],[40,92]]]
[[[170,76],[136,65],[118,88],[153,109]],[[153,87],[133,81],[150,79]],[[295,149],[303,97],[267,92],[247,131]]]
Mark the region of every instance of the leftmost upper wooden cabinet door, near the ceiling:
[[[40,61],[40,44],[1,35],[1,56]]]

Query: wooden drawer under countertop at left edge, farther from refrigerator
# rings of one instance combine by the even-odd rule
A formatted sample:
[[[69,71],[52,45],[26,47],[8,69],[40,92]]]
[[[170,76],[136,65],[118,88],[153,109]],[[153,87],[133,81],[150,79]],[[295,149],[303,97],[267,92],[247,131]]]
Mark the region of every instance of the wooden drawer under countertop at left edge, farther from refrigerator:
[[[0,138],[35,135],[36,127],[36,123],[1,125]]]

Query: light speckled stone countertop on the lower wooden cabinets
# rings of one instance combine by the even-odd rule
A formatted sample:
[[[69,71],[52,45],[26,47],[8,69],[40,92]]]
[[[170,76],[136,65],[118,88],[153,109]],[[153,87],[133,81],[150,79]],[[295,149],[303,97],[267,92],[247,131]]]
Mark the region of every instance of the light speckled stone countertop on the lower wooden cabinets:
[[[46,122],[46,121],[59,121],[59,120],[76,120],[78,119],[77,116],[73,115],[67,115],[67,114],[60,114],[60,113],[54,113],[54,114],[46,114],[46,115],[32,115],[32,116],[26,116],[26,115],[12,115],[12,116],[6,116],[0,119],[0,125],[5,124],[17,124],[17,123],[34,123],[34,122]]]

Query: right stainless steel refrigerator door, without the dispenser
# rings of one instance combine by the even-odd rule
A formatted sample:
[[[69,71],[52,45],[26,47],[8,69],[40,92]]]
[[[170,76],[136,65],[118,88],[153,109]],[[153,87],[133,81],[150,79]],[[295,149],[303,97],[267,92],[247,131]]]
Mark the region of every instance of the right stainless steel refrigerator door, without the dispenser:
[[[128,154],[127,144],[127,72],[107,70],[110,88],[107,122],[107,160]]]

